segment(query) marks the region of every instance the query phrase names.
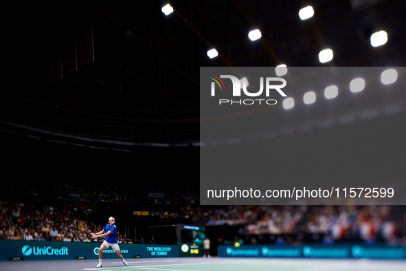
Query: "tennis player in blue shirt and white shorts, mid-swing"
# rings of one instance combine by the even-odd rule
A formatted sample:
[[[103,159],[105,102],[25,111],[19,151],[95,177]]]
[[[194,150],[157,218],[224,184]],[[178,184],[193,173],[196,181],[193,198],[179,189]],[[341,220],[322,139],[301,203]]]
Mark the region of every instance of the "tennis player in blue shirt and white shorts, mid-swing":
[[[117,242],[117,228],[115,228],[115,218],[114,217],[110,217],[109,218],[109,224],[106,224],[106,226],[104,226],[104,229],[101,230],[100,232],[94,234],[93,232],[91,233],[91,236],[93,238],[99,238],[99,237],[106,237],[106,239],[104,240],[104,242],[100,245],[99,248],[99,264],[96,266],[98,268],[102,267],[102,259],[103,259],[103,250],[106,250],[107,248],[109,248],[111,246],[111,248],[113,248],[113,250],[115,250],[115,253],[117,254],[117,256],[122,259],[124,265],[128,265],[128,263],[124,260],[124,257],[122,256],[121,252],[120,252],[120,247],[118,246],[118,242]]]

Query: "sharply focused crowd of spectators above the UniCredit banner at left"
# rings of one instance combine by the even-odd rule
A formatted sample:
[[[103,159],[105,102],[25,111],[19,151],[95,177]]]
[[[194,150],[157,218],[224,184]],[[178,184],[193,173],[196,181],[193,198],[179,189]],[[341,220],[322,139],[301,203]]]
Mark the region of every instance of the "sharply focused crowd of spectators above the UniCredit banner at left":
[[[93,239],[91,232],[100,232],[102,226],[89,224],[76,218],[78,204],[65,204],[62,211],[52,205],[39,207],[23,202],[0,202],[0,239],[25,241],[102,242],[104,237]],[[78,209],[78,210],[76,210]],[[83,208],[84,209],[84,208]],[[89,211],[90,212],[90,211]],[[94,213],[94,210],[92,210]],[[79,222],[88,225],[78,228]],[[133,243],[126,234],[117,232],[119,243]]]

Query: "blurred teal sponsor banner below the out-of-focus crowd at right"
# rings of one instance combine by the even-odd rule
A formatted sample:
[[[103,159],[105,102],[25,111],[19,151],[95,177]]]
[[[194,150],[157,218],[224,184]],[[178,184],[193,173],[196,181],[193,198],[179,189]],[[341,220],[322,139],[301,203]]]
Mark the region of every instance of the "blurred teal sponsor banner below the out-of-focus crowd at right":
[[[337,245],[247,245],[218,246],[218,257],[406,259],[406,246]]]

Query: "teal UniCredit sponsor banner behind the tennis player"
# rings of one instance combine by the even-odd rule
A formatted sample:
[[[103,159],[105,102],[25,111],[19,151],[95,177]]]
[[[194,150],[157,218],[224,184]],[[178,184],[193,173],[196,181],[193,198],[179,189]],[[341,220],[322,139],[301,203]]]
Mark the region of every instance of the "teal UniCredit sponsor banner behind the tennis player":
[[[98,259],[102,243],[76,243],[55,241],[14,241],[0,240],[0,261],[10,257],[23,257],[24,261],[69,260],[75,257]],[[141,255],[142,258],[179,257],[178,246],[139,245],[119,243],[124,259]],[[117,254],[111,248],[103,250],[103,259],[115,259]]]

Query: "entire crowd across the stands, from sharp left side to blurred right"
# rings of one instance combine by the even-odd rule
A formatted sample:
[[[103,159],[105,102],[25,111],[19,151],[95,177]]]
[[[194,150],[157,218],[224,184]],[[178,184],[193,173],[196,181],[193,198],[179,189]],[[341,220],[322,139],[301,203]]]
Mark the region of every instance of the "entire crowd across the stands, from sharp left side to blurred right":
[[[101,226],[89,224],[100,213],[109,213],[112,204],[128,206],[128,189],[108,186],[92,188],[88,184],[65,184],[51,186],[56,199],[43,202],[36,191],[27,190],[27,202],[0,202],[0,239],[38,241],[95,242],[90,232],[102,230]],[[76,193],[85,200],[66,199],[60,193]],[[305,233],[322,234],[329,240],[358,238],[374,241],[376,238],[396,243],[399,237],[406,241],[405,210],[399,221],[391,217],[392,206],[200,206],[198,193],[190,188],[174,191],[164,203],[153,206],[133,206],[128,215],[147,215],[160,218],[190,219],[190,223],[205,226],[240,226],[245,236]],[[131,197],[133,197],[132,195]],[[25,197],[21,197],[25,198]],[[131,205],[131,204],[130,204]],[[128,207],[127,207],[128,208]],[[403,217],[402,217],[403,216]],[[78,221],[89,228],[81,230]],[[403,224],[402,224],[403,223]],[[401,225],[401,226],[399,226]],[[104,225],[103,225],[104,226]],[[120,243],[135,243],[126,235],[119,235]],[[137,241],[142,243],[142,241]]]

